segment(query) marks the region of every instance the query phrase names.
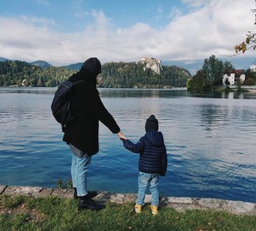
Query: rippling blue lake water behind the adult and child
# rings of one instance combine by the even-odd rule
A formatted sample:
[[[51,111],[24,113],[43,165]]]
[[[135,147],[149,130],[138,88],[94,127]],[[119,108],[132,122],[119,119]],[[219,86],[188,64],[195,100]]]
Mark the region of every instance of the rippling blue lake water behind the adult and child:
[[[55,90],[0,88],[0,184],[56,187],[71,179],[72,155],[50,111]],[[148,116],[159,119],[168,153],[161,195],[256,202],[256,92],[99,91],[131,141],[144,135]],[[136,193],[137,162],[100,123],[89,190]]]

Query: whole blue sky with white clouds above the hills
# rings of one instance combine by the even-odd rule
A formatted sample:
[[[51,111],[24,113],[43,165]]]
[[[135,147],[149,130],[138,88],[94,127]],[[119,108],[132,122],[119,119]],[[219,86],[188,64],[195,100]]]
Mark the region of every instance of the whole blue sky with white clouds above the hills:
[[[3,0],[0,57],[62,66],[89,57],[105,63],[234,55],[234,45],[256,29],[253,8],[253,0]]]

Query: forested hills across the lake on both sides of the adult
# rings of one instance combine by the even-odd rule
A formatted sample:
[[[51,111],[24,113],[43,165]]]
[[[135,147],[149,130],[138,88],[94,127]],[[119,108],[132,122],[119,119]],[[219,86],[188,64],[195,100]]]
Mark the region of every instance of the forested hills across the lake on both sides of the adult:
[[[160,74],[151,69],[143,69],[143,64],[135,62],[107,62],[102,65],[100,87],[184,87],[189,71],[178,66],[163,66]],[[27,85],[54,87],[69,78],[75,70],[67,67],[50,66],[42,69],[22,61],[0,62],[0,86]]]

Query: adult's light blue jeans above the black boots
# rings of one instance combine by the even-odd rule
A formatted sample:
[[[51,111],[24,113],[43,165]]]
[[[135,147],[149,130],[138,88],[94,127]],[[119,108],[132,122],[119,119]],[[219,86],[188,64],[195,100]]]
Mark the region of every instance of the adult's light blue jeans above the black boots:
[[[88,194],[87,191],[87,171],[90,165],[91,156],[83,151],[79,150],[72,144],[69,144],[70,150],[72,151],[72,165],[71,165],[71,176],[73,187],[77,190],[79,197]]]

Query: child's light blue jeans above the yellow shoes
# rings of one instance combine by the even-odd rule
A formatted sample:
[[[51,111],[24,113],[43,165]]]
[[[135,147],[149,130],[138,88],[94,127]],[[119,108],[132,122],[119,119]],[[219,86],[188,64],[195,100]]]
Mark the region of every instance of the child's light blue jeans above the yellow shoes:
[[[151,204],[154,206],[159,206],[159,189],[157,188],[159,184],[159,174],[147,174],[140,172],[138,179],[138,192],[137,192],[137,204],[144,204],[144,198],[146,194],[147,187],[149,185],[149,190],[152,196]]]

